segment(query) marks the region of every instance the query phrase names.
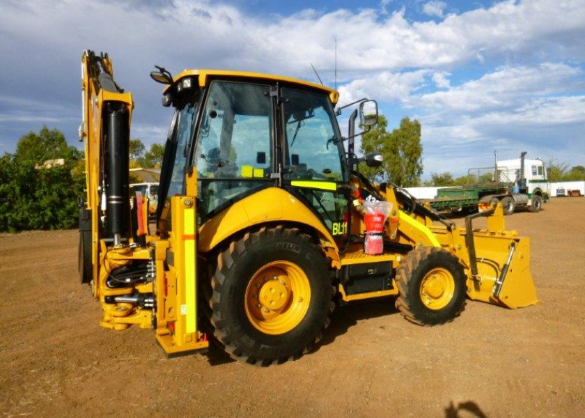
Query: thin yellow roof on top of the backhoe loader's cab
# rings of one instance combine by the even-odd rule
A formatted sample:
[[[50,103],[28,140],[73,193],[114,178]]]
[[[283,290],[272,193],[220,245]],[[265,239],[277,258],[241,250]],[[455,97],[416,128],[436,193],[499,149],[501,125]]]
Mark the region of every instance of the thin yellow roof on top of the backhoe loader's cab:
[[[297,84],[299,86],[314,88],[316,90],[322,91],[323,93],[327,93],[329,95],[329,100],[332,103],[336,104],[339,100],[339,92],[334,90],[333,88],[329,88],[326,86],[321,86],[320,84],[315,84],[312,82],[307,82],[306,80],[302,79],[295,79],[292,77],[283,77],[281,75],[273,75],[273,74],[264,74],[262,72],[246,72],[246,71],[233,71],[233,70],[183,70],[178,74],[176,77],[173,78],[173,82],[176,83],[180,79],[185,77],[196,77],[198,79],[198,84],[200,87],[204,87],[205,84],[208,82],[208,77],[210,78],[231,78],[231,79],[254,79],[258,80],[266,80],[267,82],[284,82],[288,84]],[[174,84],[173,83],[173,84]],[[170,86],[165,88],[165,93],[168,91]]]

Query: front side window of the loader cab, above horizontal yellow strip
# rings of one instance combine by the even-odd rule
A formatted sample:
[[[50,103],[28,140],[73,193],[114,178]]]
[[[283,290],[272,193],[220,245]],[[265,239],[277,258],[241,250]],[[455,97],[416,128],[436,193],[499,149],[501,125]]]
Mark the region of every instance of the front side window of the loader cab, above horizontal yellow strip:
[[[327,95],[283,88],[288,180],[347,180],[341,135]]]

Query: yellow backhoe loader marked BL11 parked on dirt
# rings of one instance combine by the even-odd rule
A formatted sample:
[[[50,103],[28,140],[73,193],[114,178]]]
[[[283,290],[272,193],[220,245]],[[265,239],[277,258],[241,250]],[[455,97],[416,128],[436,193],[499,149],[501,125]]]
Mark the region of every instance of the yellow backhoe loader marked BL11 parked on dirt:
[[[107,54],[86,51],[81,62],[79,273],[102,326],[153,330],[167,355],[214,339],[267,366],[310,351],[337,303],[394,296],[408,320],[438,325],[466,295],[508,308],[538,302],[529,240],[506,231],[501,205],[460,228],[400,187],[370,183],[359,164],[381,156],[358,158],[354,139],[356,126],[377,123],[376,102],[352,103],[343,137],[338,92],[288,77],[150,74],[174,116],[149,235],[148,202],[130,205],[132,96]],[[388,216],[366,228],[375,205]],[[476,217],[487,228],[474,229]]]

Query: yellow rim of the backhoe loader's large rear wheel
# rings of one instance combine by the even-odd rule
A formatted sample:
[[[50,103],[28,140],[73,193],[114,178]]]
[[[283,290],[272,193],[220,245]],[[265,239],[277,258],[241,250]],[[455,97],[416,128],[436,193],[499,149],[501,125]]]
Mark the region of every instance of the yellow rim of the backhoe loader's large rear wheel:
[[[246,315],[265,334],[279,335],[295,328],[305,317],[310,302],[309,278],[288,261],[263,266],[246,288]]]

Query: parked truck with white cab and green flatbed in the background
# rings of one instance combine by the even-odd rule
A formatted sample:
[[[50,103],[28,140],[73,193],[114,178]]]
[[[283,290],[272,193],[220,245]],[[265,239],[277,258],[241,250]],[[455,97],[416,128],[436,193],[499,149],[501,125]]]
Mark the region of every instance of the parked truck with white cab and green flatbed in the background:
[[[478,183],[442,187],[435,199],[426,201],[438,211],[481,211],[501,202],[504,215],[520,207],[539,212],[549,199],[547,171],[542,160],[529,160],[525,155],[522,152],[516,160],[496,161],[494,167],[470,169],[468,178]]]

